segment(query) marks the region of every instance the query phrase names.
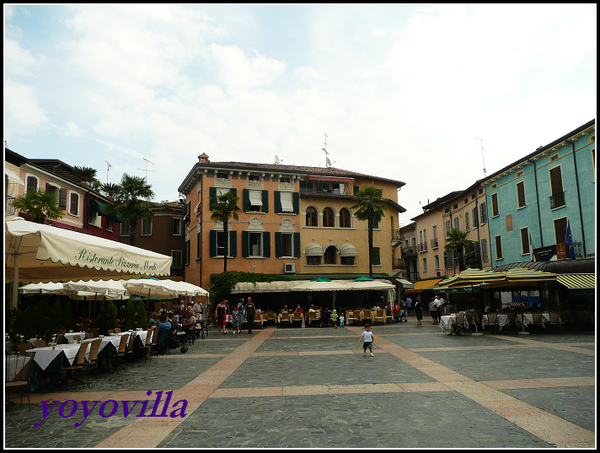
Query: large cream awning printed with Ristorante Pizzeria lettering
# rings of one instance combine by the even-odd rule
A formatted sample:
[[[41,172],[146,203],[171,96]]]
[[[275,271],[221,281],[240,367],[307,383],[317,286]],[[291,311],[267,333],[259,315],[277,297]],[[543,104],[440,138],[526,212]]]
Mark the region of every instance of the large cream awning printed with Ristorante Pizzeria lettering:
[[[22,218],[6,221],[4,245],[5,280],[12,277],[13,307],[17,306],[19,281],[170,275],[173,260],[128,244]]]

